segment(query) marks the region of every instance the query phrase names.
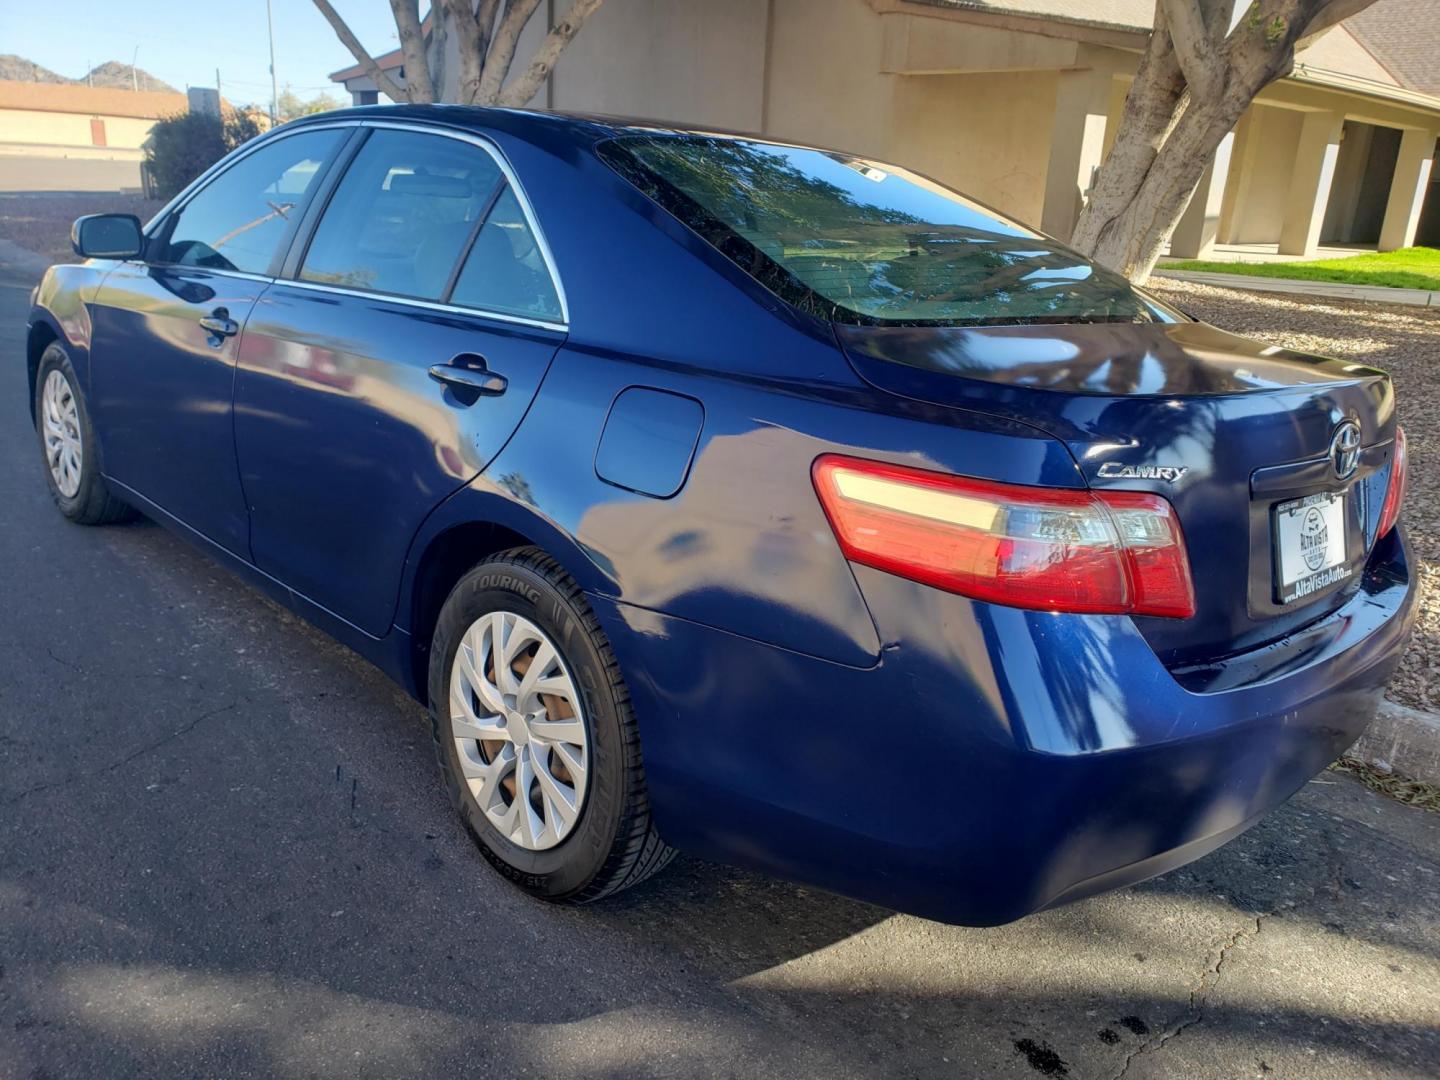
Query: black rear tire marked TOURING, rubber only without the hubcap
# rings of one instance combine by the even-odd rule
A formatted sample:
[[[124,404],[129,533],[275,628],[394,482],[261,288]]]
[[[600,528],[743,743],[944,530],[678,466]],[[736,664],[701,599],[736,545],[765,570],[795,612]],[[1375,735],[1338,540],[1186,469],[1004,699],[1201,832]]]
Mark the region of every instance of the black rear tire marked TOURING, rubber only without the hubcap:
[[[465,632],[494,611],[521,615],[549,635],[583,698],[588,792],[572,831],[543,851],[520,847],[491,824],[464,780],[451,736],[455,655]],[[539,549],[501,552],[451,592],[431,648],[429,701],[451,799],[485,858],[520,888],[541,900],[589,903],[644,881],[674,857],[651,822],[639,732],[615,654],[585,593]]]

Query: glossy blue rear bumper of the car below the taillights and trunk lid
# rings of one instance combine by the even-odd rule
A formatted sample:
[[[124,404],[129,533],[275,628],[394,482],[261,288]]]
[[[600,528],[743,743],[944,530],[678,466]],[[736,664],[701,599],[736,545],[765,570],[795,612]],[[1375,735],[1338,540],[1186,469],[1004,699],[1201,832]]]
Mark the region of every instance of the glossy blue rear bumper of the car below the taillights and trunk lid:
[[[1398,534],[1305,634],[1178,672],[1123,616],[857,577],[893,642],[871,668],[595,598],[657,824],[703,857],[966,924],[1243,832],[1359,736],[1414,619]]]

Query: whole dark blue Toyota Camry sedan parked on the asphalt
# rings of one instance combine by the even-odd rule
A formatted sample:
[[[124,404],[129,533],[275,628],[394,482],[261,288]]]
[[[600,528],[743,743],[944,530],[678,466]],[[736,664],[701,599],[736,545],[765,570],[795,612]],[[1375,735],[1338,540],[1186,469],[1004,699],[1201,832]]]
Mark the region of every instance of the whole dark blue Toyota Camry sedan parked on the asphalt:
[[[73,242],[60,513],[382,667],[547,900],[675,850],[972,924],[1139,881],[1341,753],[1413,622],[1382,372],[896,166],[350,109]]]

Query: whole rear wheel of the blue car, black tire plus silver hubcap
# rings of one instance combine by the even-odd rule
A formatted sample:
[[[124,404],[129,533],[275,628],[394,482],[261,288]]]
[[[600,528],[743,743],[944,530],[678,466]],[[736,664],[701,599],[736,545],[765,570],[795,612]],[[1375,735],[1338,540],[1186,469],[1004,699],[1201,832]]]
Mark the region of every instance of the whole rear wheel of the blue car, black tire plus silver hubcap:
[[[598,900],[671,860],[619,665],[544,553],[504,552],[459,580],[435,629],[429,700],[456,809],[527,893]]]

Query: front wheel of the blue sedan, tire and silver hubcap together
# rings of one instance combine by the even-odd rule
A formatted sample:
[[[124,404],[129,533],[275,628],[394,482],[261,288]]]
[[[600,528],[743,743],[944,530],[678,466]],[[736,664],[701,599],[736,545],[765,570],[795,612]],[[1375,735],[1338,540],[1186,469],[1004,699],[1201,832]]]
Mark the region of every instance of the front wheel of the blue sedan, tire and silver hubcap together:
[[[45,456],[45,480],[55,505],[71,521],[99,526],[122,521],[134,510],[115,498],[99,472],[99,448],[79,379],[65,348],[52,341],[35,379],[35,419]]]

